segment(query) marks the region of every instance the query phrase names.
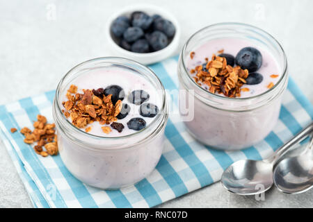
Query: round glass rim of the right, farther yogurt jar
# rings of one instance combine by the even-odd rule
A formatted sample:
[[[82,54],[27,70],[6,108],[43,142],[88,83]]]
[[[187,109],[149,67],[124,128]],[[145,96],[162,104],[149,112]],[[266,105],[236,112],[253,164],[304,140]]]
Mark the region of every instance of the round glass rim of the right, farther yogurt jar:
[[[284,59],[284,67],[283,67],[283,71],[282,71],[282,76],[280,77],[280,80],[278,80],[278,83],[276,83],[273,87],[271,87],[271,89],[266,90],[265,92],[262,92],[261,94],[257,94],[255,96],[250,96],[250,97],[227,97],[227,96],[220,96],[219,94],[214,94],[209,92],[208,90],[204,89],[203,87],[201,87],[200,85],[198,85],[197,83],[195,83],[195,81],[193,80],[193,78],[191,78],[191,75],[187,75],[188,79],[191,80],[191,82],[193,83],[193,85],[195,85],[198,89],[200,89],[202,92],[206,92],[209,93],[211,96],[213,96],[216,99],[222,99],[224,101],[248,101],[250,99],[256,99],[259,98],[261,96],[267,95],[269,92],[272,92],[274,89],[276,89],[276,87],[278,87],[278,85],[280,85],[280,83],[282,82],[282,80],[284,79],[284,77],[287,75],[287,56],[284,53],[284,49],[282,49],[282,46],[280,45],[280,43],[278,42],[278,40],[275,39],[275,37],[273,37],[271,34],[267,33],[266,31],[262,30],[261,28],[257,28],[256,26],[252,26],[250,24],[244,24],[244,23],[240,23],[240,22],[220,22],[220,23],[216,23],[216,24],[212,24],[209,26],[205,26],[204,28],[201,28],[200,30],[196,31],[195,33],[193,33],[193,35],[191,35],[191,37],[189,37],[189,39],[187,40],[187,42],[184,44],[183,49],[182,49],[182,53],[181,53],[181,58],[182,58],[182,65],[184,67],[184,71],[186,72],[186,74],[188,74],[188,69],[186,67],[186,62],[184,59],[184,53],[186,52],[186,48],[188,46],[188,43],[191,42],[191,40],[193,40],[193,37],[195,37],[195,35],[198,35],[199,33],[201,33],[202,31],[206,30],[207,28],[214,28],[216,26],[227,26],[227,25],[236,25],[236,26],[243,26],[243,27],[250,27],[250,28],[255,28],[257,31],[260,31],[261,33],[267,35],[268,37],[270,37],[272,40],[274,40],[274,42],[276,44],[278,44],[280,50],[282,51],[282,56]]]

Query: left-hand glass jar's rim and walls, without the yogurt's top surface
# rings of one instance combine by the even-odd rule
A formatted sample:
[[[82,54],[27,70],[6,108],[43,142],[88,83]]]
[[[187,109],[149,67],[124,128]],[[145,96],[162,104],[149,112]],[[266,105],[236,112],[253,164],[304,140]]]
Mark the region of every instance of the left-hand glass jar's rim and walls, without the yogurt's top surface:
[[[110,67],[131,71],[134,77],[142,76],[153,85],[161,99],[159,114],[143,130],[131,135],[91,135],[72,125],[62,112],[61,98],[72,80],[88,71]],[[142,180],[159,162],[168,119],[168,104],[165,89],[151,69],[125,58],[96,58],[82,62],[62,78],[56,89],[53,117],[59,152],[72,175],[93,187],[118,189]]]

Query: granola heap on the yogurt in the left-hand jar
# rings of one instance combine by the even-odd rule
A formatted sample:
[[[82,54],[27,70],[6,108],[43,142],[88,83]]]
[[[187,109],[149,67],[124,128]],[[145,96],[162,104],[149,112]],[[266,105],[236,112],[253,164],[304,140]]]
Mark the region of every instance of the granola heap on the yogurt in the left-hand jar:
[[[111,101],[112,95],[94,94],[95,90],[83,89],[83,94],[77,93],[77,86],[71,85],[67,90],[68,101],[63,102],[65,117],[70,117],[77,128],[85,128],[88,123],[99,121],[101,125],[117,121],[117,116],[122,110],[122,101],[118,100],[115,105]],[[89,132],[91,127],[85,129]],[[104,133],[110,133],[109,126],[103,126]]]

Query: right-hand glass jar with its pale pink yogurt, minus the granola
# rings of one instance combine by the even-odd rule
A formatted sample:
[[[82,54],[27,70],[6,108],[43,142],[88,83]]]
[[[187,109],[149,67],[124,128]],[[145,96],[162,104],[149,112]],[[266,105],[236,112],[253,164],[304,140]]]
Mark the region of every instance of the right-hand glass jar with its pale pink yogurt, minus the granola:
[[[240,63],[241,50],[251,48],[259,53],[261,60],[256,68],[241,66],[250,70],[247,70],[248,78],[243,78],[242,82],[238,79],[241,85],[234,88],[237,93],[232,96],[231,90],[225,93],[226,85],[222,87],[221,82],[220,85],[214,83],[216,90],[210,90],[212,81],[207,83],[205,76],[198,80],[198,71],[208,71],[206,64],[213,54],[221,57],[226,54],[226,60],[232,56],[227,60],[227,65],[233,63],[230,64],[232,69]],[[242,58],[249,59],[247,55]],[[287,58],[280,44],[259,28],[222,23],[201,29],[184,45],[177,73],[180,89],[194,95],[193,106],[189,108],[193,109],[193,118],[184,124],[203,144],[223,150],[248,148],[264,139],[278,121],[282,94],[288,82]],[[208,76],[211,79],[213,75]],[[227,76],[220,81],[225,83],[225,79]],[[188,104],[188,99],[190,96],[180,96],[179,108]]]

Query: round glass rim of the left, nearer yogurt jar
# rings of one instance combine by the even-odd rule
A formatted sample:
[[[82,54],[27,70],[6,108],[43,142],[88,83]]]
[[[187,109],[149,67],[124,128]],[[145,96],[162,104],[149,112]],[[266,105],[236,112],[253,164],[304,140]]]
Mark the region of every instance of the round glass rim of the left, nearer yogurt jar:
[[[142,130],[139,130],[138,132],[135,132],[135,133],[131,133],[129,135],[123,135],[123,136],[119,136],[119,137],[102,137],[102,136],[98,136],[98,135],[93,135],[93,134],[90,134],[90,133],[86,133],[84,130],[81,130],[79,128],[77,128],[76,126],[74,126],[72,123],[70,123],[70,121],[65,118],[64,114],[62,114],[62,109],[61,109],[61,105],[58,101],[58,98],[59,96],[61,96],[61,86],[63,85],[64,81],[65,81],[65,78],[67,76],[69,76],[72,71],[78,69],[79,67],[83,67],[83,65],[86,65],[88,63],[91,63],[91,62],[97,62],[97,61],[108,61],[108,62],[111,62],[111,63],[114,63],[114,60],[119,60],[121,62],[131,62],[131,64],[133,65],[136,65],[138,67],[141,67],[142,69],[144,69],[145,71],[147,71],[149,74],[151,74],[155,80],[157,80],[157,84],[160,85],[161,87],[161,91],[162,91],[162,101],[161,101],[161,109],[160,109],[160,114],[157,115],[157,118],[155,118],[147,127],[143,128]],[[62,115],[62,120],[65,121],[66,125],[69,126],[72,130],[74,130],[75,132],[77,133],[83,133],[83,135],[86,135],[88,137],[92,137],[92,138],[95,138],[95,139],[106,139],[106,140],[116,140],[116,139],[127,139],[129,137],[134,137],[136,135],[139,135],[143,132],[147,132],[148,129],[150,129],[152,126],[155,125],[155,123],[157,123],[157,121],[159,120],[159,118],[162,117],[161,114],[166,114],[166,119],[168,118],[168,113],[167,113],[167,103],[166,103],[166,91],[165,91],[165,88],[163,86],[163,84],[161,83],[161,80],[159,79],[159,77],[154,74],[154,71],[152,71],[152,69],[150,69],[149,67],[146,67],[145,65],[142,65],[141,63],[139,62],[136,62],[134,60],[130,60],[130,59],[127,59],[127,58],[121,58],[121,57],[99,57],[99,58],[93,58],[93,59],[90,59],[90,60],[86,60],[84,62],[81,62],[79,63],[78,65],[72,67],[72,69],[70,69],[69,71],[67,71],[67,73],[65,74],[65,76],[63,76],[63,78],[61,78],[60,82],[58,83],[58,86],[56,87],[56,97],[54,99],[54,102],[56,103],[56,108],[58,109],[58,112],[61,113]],[[162,126],[163,121],[161,121],[161,123],[159,124],[160,126]],[[159,128],[159,126],[157,126],[157,128],[155,130],[152,131],[151,134],[153,134],[155,131],[157,131],[157,129]],[[151,135],[150,134],[150,135]]]

